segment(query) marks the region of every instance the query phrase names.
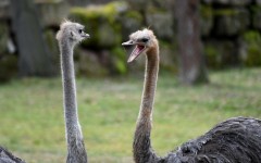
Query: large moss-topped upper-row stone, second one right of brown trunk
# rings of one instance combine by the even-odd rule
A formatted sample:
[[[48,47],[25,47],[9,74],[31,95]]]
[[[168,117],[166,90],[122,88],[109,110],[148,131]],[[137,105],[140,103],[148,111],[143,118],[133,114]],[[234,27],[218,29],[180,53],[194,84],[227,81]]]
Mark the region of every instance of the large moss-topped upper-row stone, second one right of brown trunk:
[[[245,9],[214,10],[215,35],[235,36],[246,30],[250,24],[250,14]]]

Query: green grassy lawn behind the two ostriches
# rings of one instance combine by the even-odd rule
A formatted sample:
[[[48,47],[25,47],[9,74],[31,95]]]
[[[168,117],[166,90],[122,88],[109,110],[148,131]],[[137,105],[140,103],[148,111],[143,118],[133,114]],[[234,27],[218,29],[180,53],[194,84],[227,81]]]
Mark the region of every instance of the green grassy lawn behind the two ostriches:
[[[182,87],[159,76],[152,145],[163,155],[232,116],[261,118],[261,68],[210,73],[211,84]],[[91,163],[132,162],[142,75],[77,79],[79,120]],[[0,85],[0,145],[29,163],[63,163],[66,148],[61,79]]]

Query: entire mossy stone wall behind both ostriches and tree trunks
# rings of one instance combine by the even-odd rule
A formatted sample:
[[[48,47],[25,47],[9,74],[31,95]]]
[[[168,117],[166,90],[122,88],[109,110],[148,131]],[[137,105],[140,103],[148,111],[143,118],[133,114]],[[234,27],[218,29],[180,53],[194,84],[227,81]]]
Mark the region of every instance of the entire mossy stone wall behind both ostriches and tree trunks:
[[[142,68],[144,60],[126,65],[126,51],[121,47],[130,33],[142,27],[153,29],[160,39],[161,68],[177,70],[175,0],[126,0],[80,8],[71,8],[63,0],[35,1],[42,34],[52,49],[57,66],[59,52],[54,35],[60,22],[70,17],[83,23],[91,35],[91,39],[76,50],[76,71],[80,75],[119,75]],[[108,1],[101,0],[99,3]],[[260,0],[201,0],[200,13],[202,52],[208,67],[261,65]],[[14,64],[18,57],[10,22],[9,0],[2,0],[0,70],[4,70],[7,63],[9,66]],[[12,67],[15,70],[16,66]],[[10,76],[9,71],[4,74]]]

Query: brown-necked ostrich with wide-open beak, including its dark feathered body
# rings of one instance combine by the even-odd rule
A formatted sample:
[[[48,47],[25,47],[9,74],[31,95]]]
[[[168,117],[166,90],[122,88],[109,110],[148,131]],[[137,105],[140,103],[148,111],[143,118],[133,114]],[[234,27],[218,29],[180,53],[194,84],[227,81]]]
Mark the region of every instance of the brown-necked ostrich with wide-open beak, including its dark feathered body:
[[[150,141],[160,60],[158,40],[152,30],[145,28],[132,34],[122,46],[135,46],[127,62],[146,54],[144,91],[133,142],[136,163],[261,163],[261,121],[247,117],[226,120],[167,155],[158,156]]]

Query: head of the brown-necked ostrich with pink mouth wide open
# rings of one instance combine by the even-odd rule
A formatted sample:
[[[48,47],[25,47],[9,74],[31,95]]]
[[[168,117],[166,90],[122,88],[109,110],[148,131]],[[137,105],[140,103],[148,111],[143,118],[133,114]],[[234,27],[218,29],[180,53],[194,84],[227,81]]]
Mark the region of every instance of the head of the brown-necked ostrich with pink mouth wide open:
[[[149,53],[158,47],[158,40],[150,29],[137,30],[129,35],[129,40],[123,42],[122,46],[135,46],[127,62],[133,62],[141,53]]]

